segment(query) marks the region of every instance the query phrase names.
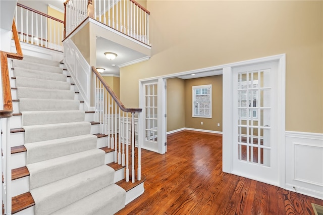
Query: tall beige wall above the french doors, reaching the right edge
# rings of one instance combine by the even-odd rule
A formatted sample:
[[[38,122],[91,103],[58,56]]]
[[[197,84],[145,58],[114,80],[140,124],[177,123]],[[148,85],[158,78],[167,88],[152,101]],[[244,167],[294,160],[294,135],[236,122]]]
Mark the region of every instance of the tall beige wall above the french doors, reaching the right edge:
[[[286,53],[286,130],[323,133],[322,1],[148,1],[147,10],[152,56],[121,69],[126,106],[138,106],[139,79]]]

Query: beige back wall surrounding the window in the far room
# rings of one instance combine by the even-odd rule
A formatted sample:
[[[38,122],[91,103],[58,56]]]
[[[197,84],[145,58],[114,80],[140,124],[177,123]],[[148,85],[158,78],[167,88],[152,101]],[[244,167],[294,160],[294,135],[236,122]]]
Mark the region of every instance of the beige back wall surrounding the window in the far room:
[[[212,85],[212,118],[192,117],[192,87],[206,84]],[[222,132],[222,75],[185,80],[185,127]]]

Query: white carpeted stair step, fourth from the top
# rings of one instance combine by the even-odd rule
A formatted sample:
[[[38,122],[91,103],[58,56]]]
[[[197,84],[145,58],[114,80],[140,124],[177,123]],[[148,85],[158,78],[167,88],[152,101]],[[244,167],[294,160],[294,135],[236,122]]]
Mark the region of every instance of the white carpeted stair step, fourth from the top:
[[[16,77],[16,87],[35,87],[44,89],[71,89],[71,83],[38,78]]]

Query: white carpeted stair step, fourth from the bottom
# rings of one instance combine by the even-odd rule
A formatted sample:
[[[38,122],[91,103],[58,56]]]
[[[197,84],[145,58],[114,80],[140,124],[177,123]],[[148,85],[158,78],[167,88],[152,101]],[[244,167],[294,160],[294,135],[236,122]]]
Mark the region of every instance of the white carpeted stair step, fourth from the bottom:
[[[26,143],[26,164],[41,162],[72,153],[96,148],[97,137],[92,134]]]

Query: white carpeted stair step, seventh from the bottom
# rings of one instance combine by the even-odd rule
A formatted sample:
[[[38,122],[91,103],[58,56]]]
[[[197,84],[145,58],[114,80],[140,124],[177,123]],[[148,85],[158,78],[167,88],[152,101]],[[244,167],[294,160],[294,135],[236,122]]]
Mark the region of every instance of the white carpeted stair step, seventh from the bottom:
[[[79,110],[80,101],[67,99],[20,98],[19,112]]]

